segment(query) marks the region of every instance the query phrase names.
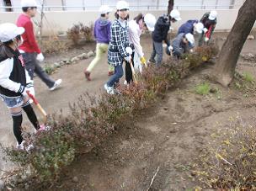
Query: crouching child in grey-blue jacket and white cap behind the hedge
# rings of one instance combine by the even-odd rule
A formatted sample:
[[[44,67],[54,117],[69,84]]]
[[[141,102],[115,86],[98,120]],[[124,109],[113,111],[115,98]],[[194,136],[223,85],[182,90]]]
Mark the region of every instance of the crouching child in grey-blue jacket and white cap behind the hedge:
[[[193,34],[178,34],[176,38],[173,40],[172,46],[173,56],[181,58],[184,55],[184,53],[189,52],[189,50],[192,50],[193,47],[195,47],[195,39]]]

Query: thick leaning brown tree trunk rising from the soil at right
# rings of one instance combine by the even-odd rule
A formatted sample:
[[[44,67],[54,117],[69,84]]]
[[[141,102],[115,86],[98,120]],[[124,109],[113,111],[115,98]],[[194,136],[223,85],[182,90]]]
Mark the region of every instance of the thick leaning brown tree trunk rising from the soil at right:
[[[223,18],[224,19],[224,18]],[[250,34],[256,19],[256,1],[246,0],[239,9],[237,19],[221,48],[216,61],[213,77],[216,82],[227,87],[234,77],[237,61],[243,44]]]

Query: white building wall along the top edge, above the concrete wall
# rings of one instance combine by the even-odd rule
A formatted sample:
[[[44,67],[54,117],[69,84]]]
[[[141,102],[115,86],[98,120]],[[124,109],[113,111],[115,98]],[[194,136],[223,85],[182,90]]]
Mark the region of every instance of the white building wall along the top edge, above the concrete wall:
[[[39,4],[43,0],[36,0]],[[45,6],[67,6],[69,8],[48,8],[48,11],[82,11],[82,10],[98,10],[102,4],[108,4],[115,8],[118,0],[45,0]],[[13,7],[20,6],[20,0],[11,0]],[[62,3],[63,2],[63,3]],[[158,9],[165,10],[168,6],[168,0],[127,0],[130,3],[131,10],[143,9]],[[235,8],[239,8],[244,0],[177,0],[175,1],[175,8],[179,10],[193,10],[193,9],[228,9],[231,4],[235,4]],[[3,0],[0,0],[3,3]],[[76,8],[71,8],[71,7]],[[14,8],[13,11],[17,12],[20,8]],[[4,9],[0,10],[4,11]]]

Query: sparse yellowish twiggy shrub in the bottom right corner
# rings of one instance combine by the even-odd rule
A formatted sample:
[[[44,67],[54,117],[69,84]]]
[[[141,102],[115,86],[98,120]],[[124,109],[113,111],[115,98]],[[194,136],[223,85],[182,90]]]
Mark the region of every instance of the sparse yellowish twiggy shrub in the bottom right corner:
[[[212,136],[195,171],[204,188],[256,189],[256,129],[231,118],[231,125]]]

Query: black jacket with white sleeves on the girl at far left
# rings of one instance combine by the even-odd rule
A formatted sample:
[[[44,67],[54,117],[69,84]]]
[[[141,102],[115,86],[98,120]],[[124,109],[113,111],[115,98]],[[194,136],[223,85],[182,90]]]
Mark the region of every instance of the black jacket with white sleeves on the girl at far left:
[[[19,50],[0,45],[0,94],[8,97],[21,96],[30,82],[32,81],[25,70]]]

